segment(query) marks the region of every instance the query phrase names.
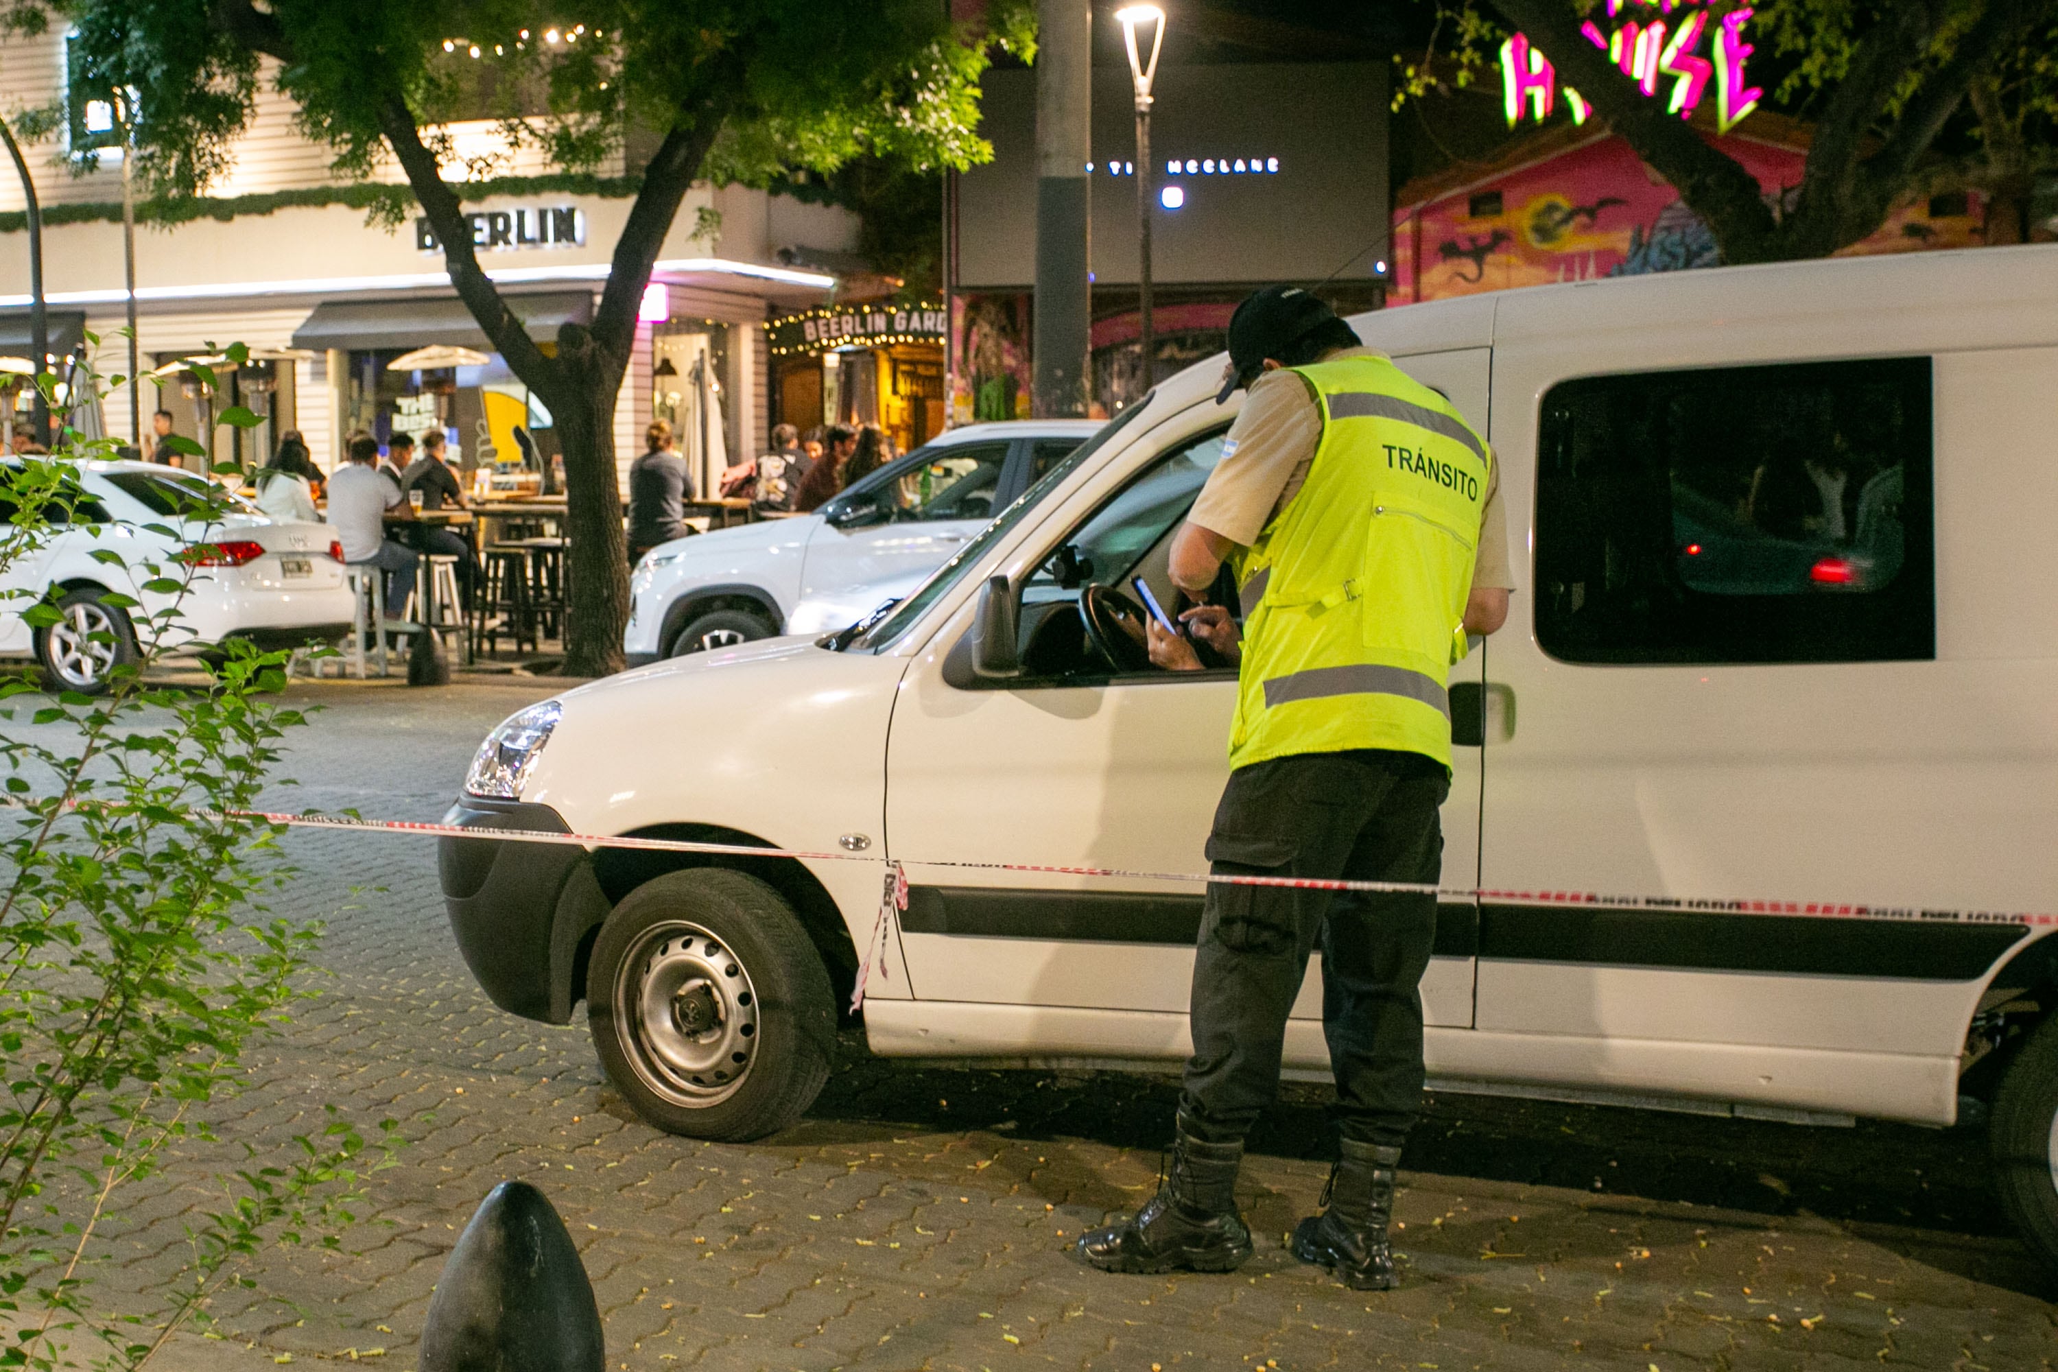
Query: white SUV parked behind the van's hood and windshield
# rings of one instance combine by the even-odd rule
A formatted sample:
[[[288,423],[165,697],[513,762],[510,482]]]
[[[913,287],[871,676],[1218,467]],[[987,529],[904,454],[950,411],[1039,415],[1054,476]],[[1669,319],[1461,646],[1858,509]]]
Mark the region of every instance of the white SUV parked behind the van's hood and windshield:
[[[1095,420],[967,424],[813,514],[673,539],[630,578],[630,666],[774,634],[821,634],[908,594],[1083,444]]]

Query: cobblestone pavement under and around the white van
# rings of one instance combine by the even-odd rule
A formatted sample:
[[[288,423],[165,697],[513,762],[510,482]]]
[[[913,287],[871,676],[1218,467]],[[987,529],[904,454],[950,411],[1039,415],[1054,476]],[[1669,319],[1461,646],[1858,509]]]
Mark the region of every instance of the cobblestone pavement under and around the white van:
[[[294,806],[434,819],[486,728],[545,683],[296,687]],[[422,839],[296,833],[294,913],[333,971],[224,1127],[280,1146],[333,1103],[407,1121],[344,1253],[261,1255],[216,1306],[214,1366],[414,1366],[432,1284],[498,1181],[558,1203],[609,1368],[2039,1368],[2052,1281],[2009,1236],[1976,1129],[1799,1129],[1441,1096],[1408,1148],[1406,1286],[1348,1292],[1280,1236],[1325,1177],[1321,1092],[1251,1140],[1257,1257],[1220,1277],[1107,1277],[1068,1244],[1148,1195],[1173,1084],[844,1063],[747,1146],[634,1119],[582,1026],[494,1010],[457,956]],[[121,1216],[115,1284],[169,1275],[198,1168]],[[239,1345],[253,1345],[245,1351]],[[208,1366],[200,1358],[193,1366]]]

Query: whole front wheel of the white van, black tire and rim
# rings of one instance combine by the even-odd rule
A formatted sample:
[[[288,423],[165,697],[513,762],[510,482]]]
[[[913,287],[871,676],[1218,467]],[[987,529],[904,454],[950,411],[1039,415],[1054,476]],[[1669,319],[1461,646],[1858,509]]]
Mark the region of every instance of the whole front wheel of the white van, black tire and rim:
[[[601,926],[587,1026],[648,1123],[745,1142],[796,1121],[829,1080],[836,994],[778,891],[696,868],[644,882]]]

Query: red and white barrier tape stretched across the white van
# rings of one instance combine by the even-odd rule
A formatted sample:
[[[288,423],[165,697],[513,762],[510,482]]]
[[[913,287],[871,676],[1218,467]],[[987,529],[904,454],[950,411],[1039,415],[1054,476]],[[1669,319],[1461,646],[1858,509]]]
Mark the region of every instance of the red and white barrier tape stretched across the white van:
[[[12,804],[21,804],[19,800]],[[202,813],[210,817],[214,813]],[[1138,872],[1128,868],[1052,866],[1033,862],[963,862],[949,858],[879,858],[854,852],[807,852],[799,847],[753,847],[747,843],[698,843],[691,839],[640,839],[595,833],[547,833],[541,829],[469,829],[463,825],[422,823],[407,819],[352,819],[348,815],[284,815],[272,810],[228,810],[222,819],[247,819],[288,829],[346,829],[358,833],[399,833],[449,839],[482,839],[498,843],[558,843],[576,847],[626,847],[638,852],[704,854],[716,858],[796,858],[801,862],[877,862],[885,864],[885,887],[879,899],[879,922],[866,940],[864,963],[850,1008],[864,1004],[864,983],[873,969],[885,973],[887,924],[908,909],[906,868],[949,868],[961,872],[1041,872],[1048,876],[1095,876],[1120,880],[1161,880],[1194,887],[1284,887],[1290,891],[1362,891],[1375,895],[1434,895],[1490,905],[1591,905],[1607,909],[1648,909],[1696,915],[1772,915],[1801,919],[1895,919],[1922,924],[2025,924],[2046,928],[2058,924],[2050,913],[1926,909],[1912,905],[1858,905],[1848,901],[1739,901],[1661,895],[1601,895],[1595,891],[1502,891],[1492,887],[1439,887],[1404,880],[1344,880],[1315,876],[1243,876],[1235,872]]]

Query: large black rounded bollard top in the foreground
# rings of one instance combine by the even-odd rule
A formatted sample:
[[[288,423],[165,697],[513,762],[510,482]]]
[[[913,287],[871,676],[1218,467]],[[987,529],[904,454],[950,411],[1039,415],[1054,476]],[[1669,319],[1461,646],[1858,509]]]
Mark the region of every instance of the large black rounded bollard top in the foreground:
[[[601,1308],[564,1220],[527,1181],[494,1187],[442,1265],[422,1372],[603,1372]]]

